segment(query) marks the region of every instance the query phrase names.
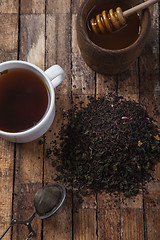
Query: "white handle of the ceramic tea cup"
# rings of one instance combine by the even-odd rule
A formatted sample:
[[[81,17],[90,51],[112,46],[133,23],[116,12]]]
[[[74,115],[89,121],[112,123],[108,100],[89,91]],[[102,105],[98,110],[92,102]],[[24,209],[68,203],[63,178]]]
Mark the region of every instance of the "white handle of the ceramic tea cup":
[[[53,88],[56,88],[65,77],[65,73],[59,65],[48,68],[45,73],[51,80]]]

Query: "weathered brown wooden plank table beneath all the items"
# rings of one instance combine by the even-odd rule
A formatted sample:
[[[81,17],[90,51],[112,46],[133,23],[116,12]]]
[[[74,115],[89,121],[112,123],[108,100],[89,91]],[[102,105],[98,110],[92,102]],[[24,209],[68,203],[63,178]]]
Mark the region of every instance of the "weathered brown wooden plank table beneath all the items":
[[[160,126],[159,4],[151,9],[152,30],[141,56],[117,75],[101,75],[84,63],[76,39],[76,17],[82,0],[1,0],[0,61],[20,59],[43,70],[59,64],[66,77],[56,89],[56,117],[47,133],[26,144],[0,139],[0,235],[11,219],[26,219],[33,212],[33,199],[43,185],[53,183],[56,170],[46,157],[63,122],[63,110],[87,96],[109,92],[140,102]],[[155,109],[157,105],[158,111]],[[41,140],[41,144],[40,144]],[[63,210],[46,220],[32,222],[37,240],[159,240],[160,164],[149,194],[134,199],[120,194],[87,196],[79,204],[67,192]],[[110,204],[108,204],[110,200]],[[4,240],[23,240],[24,225],[14,226]]]

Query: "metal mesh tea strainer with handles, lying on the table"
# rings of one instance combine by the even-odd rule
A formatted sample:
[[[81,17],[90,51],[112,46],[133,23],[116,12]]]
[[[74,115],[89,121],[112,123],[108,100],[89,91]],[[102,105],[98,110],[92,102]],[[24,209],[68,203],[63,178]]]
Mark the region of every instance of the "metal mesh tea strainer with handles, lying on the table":
[[[10,227],[15,224],[24,224],[28,227],[29,235],[26,240],[30,239],[34,234],[34,230],[31,226],[31,222],[34,217],[39,219],[45,219],[51,217],[55,214],[60,207],[62,206],[66,197],[66,190],[63,185],[59,183],[55,183],[52,185],[45,186],[40,188],[34,197],[34,213],[27,220],[18,220],[12,219],[9,227],[5,230],[5,232],[0,237],[0,240],[4,237],[4,235],[8,232]]]

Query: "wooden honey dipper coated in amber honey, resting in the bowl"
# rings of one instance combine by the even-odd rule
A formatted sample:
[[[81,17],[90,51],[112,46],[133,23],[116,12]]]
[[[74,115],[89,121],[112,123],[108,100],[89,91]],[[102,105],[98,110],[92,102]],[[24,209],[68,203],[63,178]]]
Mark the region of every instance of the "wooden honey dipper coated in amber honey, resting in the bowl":
[[[92,18],[90,20],[91,29],[96,34],[106,33],[106,30],[108,32],[113,32],[114,29],[119,29],[121,26],[126,24],[126,18],[128,16],[132,15],[133,13],[137,13],[140,10],[143,10],[159,1],[160,0],[148,0],[124,12],[122,12],[120,7],[116,8],[116,12],[114,12],[113,9],[110,9],[108,14],[106,10],[104,10],[101,14],[97,14],[95,19]]]

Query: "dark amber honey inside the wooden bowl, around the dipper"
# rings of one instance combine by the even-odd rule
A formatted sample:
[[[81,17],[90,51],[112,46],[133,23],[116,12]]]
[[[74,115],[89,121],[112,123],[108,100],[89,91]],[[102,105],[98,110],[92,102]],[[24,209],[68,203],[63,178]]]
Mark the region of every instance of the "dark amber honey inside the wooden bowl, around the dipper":
[[[98,33],[95,34],[90,27],[90,20],[101,13],[103,10],[115,9],[121,7],[122,11],[125,11],[132,6],[128,6],[123,1],[101,1],[101,4],[93,6],[89,12],[86,20],[86,31],[89,39],[96,45],[109,49],[119,50],[132,45],[139,37],[141,31],[141,24],[138,14],[132,14],[126,19],[126,24],[118,30],[114,30],[112,33]]]

